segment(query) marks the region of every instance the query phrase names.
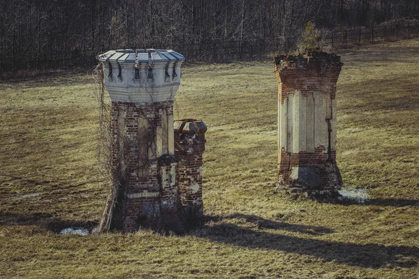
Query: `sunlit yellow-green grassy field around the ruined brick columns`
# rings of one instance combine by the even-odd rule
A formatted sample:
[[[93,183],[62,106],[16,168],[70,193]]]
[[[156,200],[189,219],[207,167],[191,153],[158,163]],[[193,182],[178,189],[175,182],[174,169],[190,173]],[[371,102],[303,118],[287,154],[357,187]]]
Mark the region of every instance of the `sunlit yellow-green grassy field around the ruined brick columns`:
[[[89,75],[0,84],[3,278],[419,278],[419,40],[341,52],[337,160],[367,204],[275,193],[273,61],[189,66],[177,118],[207,123],[206,223],[186,236],[93,227],[106,192]]]

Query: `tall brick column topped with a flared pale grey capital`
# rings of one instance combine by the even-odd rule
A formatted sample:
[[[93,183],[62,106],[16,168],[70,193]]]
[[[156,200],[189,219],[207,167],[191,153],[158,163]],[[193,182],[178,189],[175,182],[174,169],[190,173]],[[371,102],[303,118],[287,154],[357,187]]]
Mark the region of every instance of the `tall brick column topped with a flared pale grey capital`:
[[[112,100],[113,176],[99,229],[182,232],[173,98],[184,56],[172,50],[112,50],[98,59]]]

